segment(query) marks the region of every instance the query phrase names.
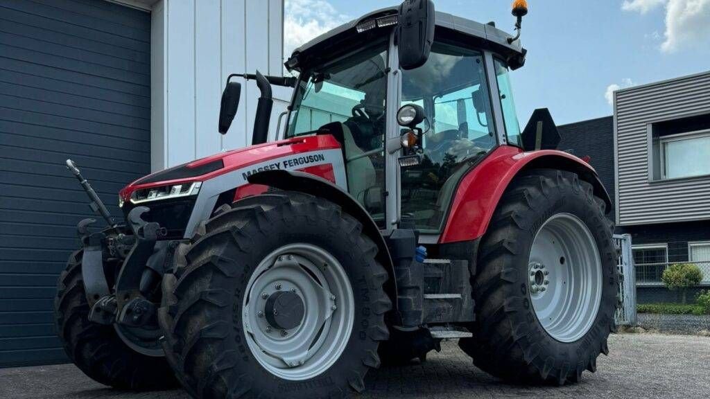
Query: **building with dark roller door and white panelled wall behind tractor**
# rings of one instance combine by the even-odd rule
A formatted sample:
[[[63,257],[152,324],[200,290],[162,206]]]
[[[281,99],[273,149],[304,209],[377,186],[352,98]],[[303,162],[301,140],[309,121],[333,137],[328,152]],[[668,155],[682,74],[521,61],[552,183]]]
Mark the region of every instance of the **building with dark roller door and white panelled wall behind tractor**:
[[[92,216],[65,159],[118,215],[127,182],[246,145],[258,89],[221,136],[226,76],[282,65],[283,0],[0,0],[0,366],[65,360],[55,284]]]

